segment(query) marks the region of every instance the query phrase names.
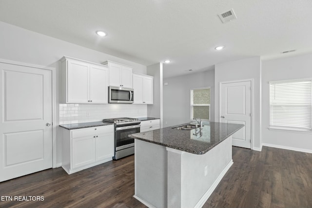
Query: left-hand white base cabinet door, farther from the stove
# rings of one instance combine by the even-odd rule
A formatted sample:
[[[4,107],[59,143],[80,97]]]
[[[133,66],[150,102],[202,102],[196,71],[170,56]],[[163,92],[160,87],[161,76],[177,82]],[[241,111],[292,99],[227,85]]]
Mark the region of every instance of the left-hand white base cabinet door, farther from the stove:
[[[72,139],[71,168],[95,162],[95,139],[93,136]]]

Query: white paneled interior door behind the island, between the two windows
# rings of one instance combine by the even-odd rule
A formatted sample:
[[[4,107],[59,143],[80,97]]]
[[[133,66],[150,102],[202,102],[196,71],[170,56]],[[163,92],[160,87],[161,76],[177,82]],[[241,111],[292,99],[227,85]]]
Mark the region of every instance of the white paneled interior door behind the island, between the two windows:
[[[221,84],[221,119],[223,123],[245,125],[233,134],[233,146],[251,149],[251,81]]]

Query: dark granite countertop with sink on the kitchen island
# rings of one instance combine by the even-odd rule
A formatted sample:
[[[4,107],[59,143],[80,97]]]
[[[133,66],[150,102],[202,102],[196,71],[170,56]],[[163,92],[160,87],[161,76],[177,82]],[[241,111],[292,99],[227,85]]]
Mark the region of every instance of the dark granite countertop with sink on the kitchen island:
[[[204,154],[231,136],[234,132],[244,127],[242,124],[204,122],[202,135],[200,135],[199,128],[196,130],[173,129],[182,125],[186,124],[180,124],[149,132],[134,133],[129,136],[180,151],[186,151],[194,154]],[[194,135],[196,132],[197,135]]]

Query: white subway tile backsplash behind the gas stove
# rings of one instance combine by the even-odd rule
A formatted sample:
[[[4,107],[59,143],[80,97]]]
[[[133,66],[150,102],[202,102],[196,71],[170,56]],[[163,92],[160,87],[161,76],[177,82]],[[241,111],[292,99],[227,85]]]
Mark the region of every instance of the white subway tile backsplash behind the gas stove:
[[[59,124],[101,121],[104,118],[146,117],[147,105],[59,104]]]

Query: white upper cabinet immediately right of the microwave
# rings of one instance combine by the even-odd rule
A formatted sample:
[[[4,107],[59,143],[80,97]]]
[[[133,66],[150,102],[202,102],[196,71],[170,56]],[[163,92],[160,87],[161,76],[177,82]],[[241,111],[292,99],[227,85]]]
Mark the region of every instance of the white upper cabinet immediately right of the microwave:
[[[153,104],[153,76],[133,73],[133,104]]]

